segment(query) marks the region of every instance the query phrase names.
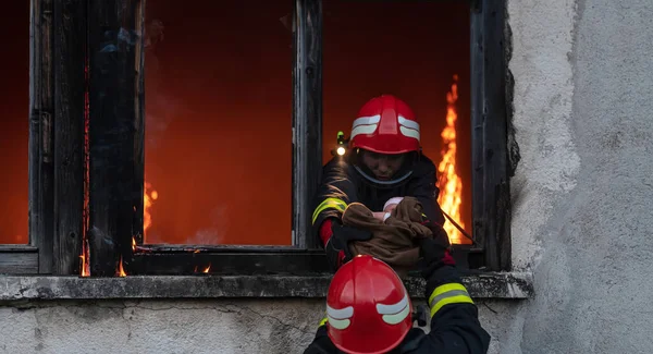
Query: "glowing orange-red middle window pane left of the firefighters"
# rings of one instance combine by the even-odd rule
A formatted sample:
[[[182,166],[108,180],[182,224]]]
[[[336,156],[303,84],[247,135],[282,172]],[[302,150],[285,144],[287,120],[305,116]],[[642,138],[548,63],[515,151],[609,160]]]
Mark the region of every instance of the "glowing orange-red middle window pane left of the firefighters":
[[[146,243],[292,243],[291,13],[147,1]]]

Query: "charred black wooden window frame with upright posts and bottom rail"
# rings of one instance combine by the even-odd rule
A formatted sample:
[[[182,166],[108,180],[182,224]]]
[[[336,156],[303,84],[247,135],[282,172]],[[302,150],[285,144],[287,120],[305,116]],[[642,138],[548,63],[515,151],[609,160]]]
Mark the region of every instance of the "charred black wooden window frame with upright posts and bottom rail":
[[[128,274],[328,272],[309,234],[322,2],[293,1],[293,246],[143,246],[145,0],[32,0],[29,244],[0,246],[0,273],[79,274],[84,263],[94,277],[120,265]],[[510,268],[505,11],[505,1],[470,1],[476,243],[455,246],[469,269]]]

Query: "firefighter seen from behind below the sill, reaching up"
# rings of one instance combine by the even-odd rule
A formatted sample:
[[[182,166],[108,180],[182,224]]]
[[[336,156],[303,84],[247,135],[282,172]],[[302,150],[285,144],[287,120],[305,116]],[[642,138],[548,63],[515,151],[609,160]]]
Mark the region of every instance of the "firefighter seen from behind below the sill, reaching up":
[[[486,353],[490,334],[447,247],[444,230],[420,243],[419,269],[431,313],[428,334],[412,327],[412,304],[399,277],[381,260],[361,255],[335,272],[326,317],[304,354]]]

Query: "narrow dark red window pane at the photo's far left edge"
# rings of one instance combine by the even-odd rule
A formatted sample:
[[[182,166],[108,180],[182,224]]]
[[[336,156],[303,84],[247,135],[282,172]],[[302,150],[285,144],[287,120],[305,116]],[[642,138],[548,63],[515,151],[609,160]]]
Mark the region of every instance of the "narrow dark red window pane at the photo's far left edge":
[[[0,59],[0,244],[26,244],[29,139],[29,1],[9,1],[0,22],[4,34]],[[11,54],[9,54],[11,53]]]

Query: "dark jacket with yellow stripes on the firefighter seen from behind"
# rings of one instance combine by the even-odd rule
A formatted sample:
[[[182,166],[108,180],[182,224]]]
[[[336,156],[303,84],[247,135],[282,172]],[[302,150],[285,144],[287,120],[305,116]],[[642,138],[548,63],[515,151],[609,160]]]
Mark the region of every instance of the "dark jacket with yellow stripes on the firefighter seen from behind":
[[[482,354],[490,346],[490,334],[481,327],[478,309],[457,271],[452,266],[436,270],[427,283],[431,309],[431,331],[412,328],[390,354]],[[323,319],[316,338],[304,354],[344,353],[326,334]]]

